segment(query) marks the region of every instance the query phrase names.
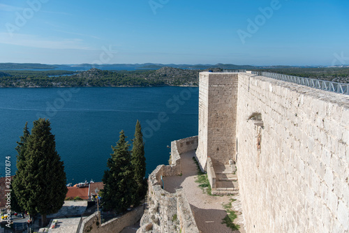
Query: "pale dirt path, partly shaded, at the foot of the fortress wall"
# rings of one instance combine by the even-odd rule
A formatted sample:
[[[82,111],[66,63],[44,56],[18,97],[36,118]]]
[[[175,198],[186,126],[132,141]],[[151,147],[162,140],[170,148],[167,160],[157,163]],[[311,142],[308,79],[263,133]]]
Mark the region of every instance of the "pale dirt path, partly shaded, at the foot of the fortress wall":
[[[227,214],[223,209],[223,204],[227,204],[231,198],[234,198],[237,201],[233,202],[232,206],[233,209],[237,210],[241,206],[241,204],[239,205],[239,196],[211,196],[203,193],[202,189],[198,187],[198,183],[195,183],[197,172],[193,156],[195,156],[195,151],[181,154],[182,176],[164,177],[164,189],[170,193],[175,193],[176,189],[184,188],[195,222],[201,232],[232,232],[230,228],[221,223]],[[241,207],[238,211],[241,211]],[[240,225],[243,224],[241,216],[237,220],[239,220]],[[242,230],[235,232],[245,232],[243,228],[241,227]]]

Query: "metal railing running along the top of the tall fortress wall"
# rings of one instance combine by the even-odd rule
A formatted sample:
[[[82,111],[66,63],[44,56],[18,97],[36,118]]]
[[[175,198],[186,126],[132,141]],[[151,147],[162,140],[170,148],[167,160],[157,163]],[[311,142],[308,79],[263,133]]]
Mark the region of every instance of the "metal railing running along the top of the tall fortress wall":
[[[349,84],[345,84],[345,83],[331,82],[326,80],[314,80],[309,77],[297,77],[292,75],[281,75],[277,73],[260,72],[260,71],[252,71],[251,73],[253,73],[253,75],[271,77],[276,80],[293,82],[295,84],[303,85],[306,87],[313,87],[315,89],[320,89],[323,91],[332,91],[336,93],[349,95]]]

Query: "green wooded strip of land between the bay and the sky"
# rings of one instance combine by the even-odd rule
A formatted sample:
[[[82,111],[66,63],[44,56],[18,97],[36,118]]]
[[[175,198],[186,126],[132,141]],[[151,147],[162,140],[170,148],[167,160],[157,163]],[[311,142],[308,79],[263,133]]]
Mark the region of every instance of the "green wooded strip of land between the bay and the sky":
[[[6,66],[8,65],[8,63],[0,63],[0,65],[3,65],[3,64],[6,64]],[[34,64],[34,65],[36,66],[37,64]],[[221,65],[222,67],[218,67],[218,65]],[[11,65],[11,66],[14,66],[14,65]],[[59,66],[63,66],[63,65],[59,65]],[[177,66],[184,66],[184,65],[177,65]],[[195,65],[195,66],[199,66],[199,65]],[[204,66],[204,65],[200,65],[200,66]],[[235,65],[229,65],[229,67],[230,66],[235,66]],[[18,66],[18,67],[21,67],[21,66]],[[193,68],[193,67],[174,68],[170,66],[163,66],[161,68],[158,68],[157,70],[150,69],[154,67],[155,67],[154,64],[151,64],[151,65],[144,64],[142,67],[140,66],[136,70],[101,70],[98,68],[91,68],[87,71],[71,71],[71,70],[69,71],[69,70],[57,70],[57,69],[55,70],[52,70],[52,69],[51,70],[25,70],[25,69],[1,70],[0,71],[0,87],[161,87],[161,86],[195,87],[195,86],[198,86],[200,72],[208,71],[208,70],[211,70],[213,72],[223,72],[223,71],[232,72],[232,69],[227,69],[226,67],[228,67],[228,65],[224,65],[224,64],[216,64],[211,68],[206,68],[206,69]],[[239,69],[246,69],[246,67],[244,68],[239,67]],[[249,70],[266,71],[266,72],[272,72],[272,73],[281,73],[284,75],[311,77],[317,80],[349,83],[349,67],[347,66],[345,67],[291,67],[291,66],[252,67],[251,66]]]

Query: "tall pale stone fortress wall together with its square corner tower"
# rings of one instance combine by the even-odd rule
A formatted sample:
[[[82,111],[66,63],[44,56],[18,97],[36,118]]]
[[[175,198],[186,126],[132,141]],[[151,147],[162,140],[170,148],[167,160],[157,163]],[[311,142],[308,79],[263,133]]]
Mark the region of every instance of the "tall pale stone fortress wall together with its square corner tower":
[[[198,160],[235,160],[246,232],[349,231],[348,96],[200,73],[199,105]]]

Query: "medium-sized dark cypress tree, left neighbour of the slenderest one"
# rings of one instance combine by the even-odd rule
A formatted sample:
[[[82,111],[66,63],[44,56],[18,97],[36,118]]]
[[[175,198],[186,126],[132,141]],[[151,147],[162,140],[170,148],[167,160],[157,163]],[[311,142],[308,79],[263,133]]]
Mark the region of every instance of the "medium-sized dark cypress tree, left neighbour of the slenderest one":
[[[126,142],[124,130],[121,130],[117,146],[112,146],[114,153],[107,160],[108,170],[103,176],[104,188],[101,190],[104,211],[123,213],[133,200],[133,170],[131,167],[130,144]]]

